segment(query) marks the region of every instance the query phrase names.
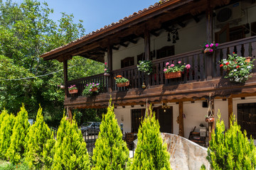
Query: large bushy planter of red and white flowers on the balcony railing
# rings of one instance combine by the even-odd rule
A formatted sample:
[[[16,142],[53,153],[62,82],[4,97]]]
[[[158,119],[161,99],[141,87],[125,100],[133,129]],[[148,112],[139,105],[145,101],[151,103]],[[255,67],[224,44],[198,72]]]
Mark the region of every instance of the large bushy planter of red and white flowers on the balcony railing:
[[[236,83],[245,83],[255,67],[253,61],[250,61],[250,57],[240,57],[233,52],[233,55],[228,55],[228,59],[220,60],[220,67],[228,71],[225,78]]]

